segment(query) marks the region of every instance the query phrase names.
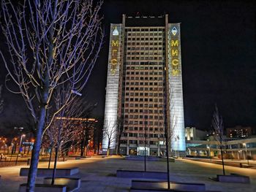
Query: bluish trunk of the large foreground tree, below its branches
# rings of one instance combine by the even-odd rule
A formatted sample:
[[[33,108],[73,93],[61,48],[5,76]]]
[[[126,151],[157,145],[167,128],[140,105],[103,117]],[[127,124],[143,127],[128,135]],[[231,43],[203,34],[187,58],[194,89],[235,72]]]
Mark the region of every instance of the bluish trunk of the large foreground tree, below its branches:
[[[46,106],[41,107],[39,122],[37,123],[37,134],[31,155],[31,164],[29,167],[28,183],[26,185],[27,192],[34,192],[34,185],[37,177],[37,166],[39,160],[40,147],[42,143],[42,130],[45,126]]]

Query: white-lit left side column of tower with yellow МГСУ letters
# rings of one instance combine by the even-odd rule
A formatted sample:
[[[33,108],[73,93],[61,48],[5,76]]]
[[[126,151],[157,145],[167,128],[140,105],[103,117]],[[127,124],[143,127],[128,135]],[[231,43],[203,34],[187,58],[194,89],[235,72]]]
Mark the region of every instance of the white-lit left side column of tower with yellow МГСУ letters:
[[[102,150],[106,153],[108,141],[110,149],[116,146],[116,120],[118,112],[118,82],[121,61],[121,24],[110,25],[110,45],[108,54],[108,77],[106,86],[105,118],[103,131]],[[108,135],[111,134],[111,138]]]

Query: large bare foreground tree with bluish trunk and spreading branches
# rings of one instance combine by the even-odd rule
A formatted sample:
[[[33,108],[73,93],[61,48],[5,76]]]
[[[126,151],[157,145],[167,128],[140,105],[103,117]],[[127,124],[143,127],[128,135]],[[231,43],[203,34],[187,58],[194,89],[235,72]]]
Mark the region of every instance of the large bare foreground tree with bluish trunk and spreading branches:
[[[27,191],[34,191],[53,91],[65,82],[72,85],[69,96],[81,91],[97,60],[103,38],[101,5],[92,0],[24,0],[15,7],[10,0],[1,1],[1,28],[10,53],[7,60],[0,52],[8,72],[6,84],[12,80],[18,86],[12,92],[23,96],[37,130]]]

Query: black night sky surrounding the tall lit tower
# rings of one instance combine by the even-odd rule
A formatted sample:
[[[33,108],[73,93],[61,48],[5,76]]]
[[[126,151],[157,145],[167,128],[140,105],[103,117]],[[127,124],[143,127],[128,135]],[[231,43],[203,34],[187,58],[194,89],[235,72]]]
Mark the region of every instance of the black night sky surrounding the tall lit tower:
[[[255,1],[105,1],[105,45],[83,91],[98,103],[94,116],[104,115],[110,23],[121,23],[123,13],[167,13],[169,23],[181,23],[185,126],[209,129],[215,103],[225,127],[256,126],[255,10]],[[0,65],[3,84],[6,70]],[[24,111],[20,96],[4,88],[4,100],[0,121],[20,119],[13,118]]]

